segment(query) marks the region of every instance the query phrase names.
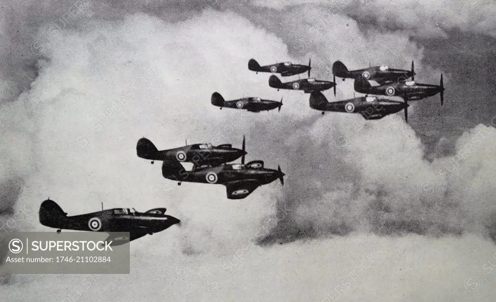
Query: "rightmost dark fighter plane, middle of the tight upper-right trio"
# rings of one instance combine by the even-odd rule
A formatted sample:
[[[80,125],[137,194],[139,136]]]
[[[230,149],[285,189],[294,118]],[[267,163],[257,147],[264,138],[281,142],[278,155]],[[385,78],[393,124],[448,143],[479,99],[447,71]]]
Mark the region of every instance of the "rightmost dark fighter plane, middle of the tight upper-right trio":
[[[387,85],[372,86],[367,79],[360,76],[355,79],[354,88],[356,92],[366,94],[379,94],[386,96],[406,97],[408,100],[421,100],[439,93],[441,97],[441,106],[444,99],[444,85],[442,83],[442,74],[439,86],[431,84],[420,84],[415,81],[400,81]]]

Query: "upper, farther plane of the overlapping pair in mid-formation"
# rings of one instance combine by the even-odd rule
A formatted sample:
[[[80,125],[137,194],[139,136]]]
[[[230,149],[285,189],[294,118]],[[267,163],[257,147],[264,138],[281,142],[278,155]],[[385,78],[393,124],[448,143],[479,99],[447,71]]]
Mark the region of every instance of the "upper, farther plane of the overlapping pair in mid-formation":
[[[140,138],[136,144],[138,157],[152,161],[176,160],[189,162],[194,166],[209,165],[212,167],[232,162],[247,154],[245,151],[245,137],[243,136],[243,149],[233,148],[232,144],[213,146],[210,143],[193,144],[184,147],[159,151],[147,138]]]

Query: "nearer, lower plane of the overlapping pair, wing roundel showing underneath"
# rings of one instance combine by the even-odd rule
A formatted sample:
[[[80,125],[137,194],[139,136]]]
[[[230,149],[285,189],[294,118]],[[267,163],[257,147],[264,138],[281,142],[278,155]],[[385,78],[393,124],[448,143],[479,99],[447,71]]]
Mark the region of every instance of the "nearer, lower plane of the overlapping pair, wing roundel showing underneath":
[[[284,173],[281,167],[277,170],[264,168],[261,160],[251,161],[245,165],[245,155],[241,158],[241,164],[223,164],[218,167],[199,167],[191,171],[174,160],[164,161],[162,164],[162,176],[169,180],[200,183],[217,183],[226,186],[228,199],[243,199],[253,192],[257,187],[268,184],[276,179],[284,185]]]

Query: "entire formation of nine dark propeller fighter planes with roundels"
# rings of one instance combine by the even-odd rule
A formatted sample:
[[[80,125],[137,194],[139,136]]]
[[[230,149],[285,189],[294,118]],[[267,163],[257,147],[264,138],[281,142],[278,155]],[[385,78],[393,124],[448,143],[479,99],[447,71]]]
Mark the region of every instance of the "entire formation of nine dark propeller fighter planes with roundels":
[[[387,115],[404,110],[405,121],[408,121],[408,101],[421,100],[440,94],[441,106],[444,98],[442,74],[439,85],[421,84],[415,82],[414,62],[411,70],[392,69],[386,65],[369,66],[369,68],[348,70],[341,61],[332,65],[333,81],[310,78],[311,60],[308,65],[292,64],[291,62],[275,63],[261,66],[256,60],[248,61],[248,69],[258,72],[273,73],[268,80],[269,87],[280,89],[300,90],[310,93],[310,108],[322,112],[357,113],[366,120],[378,120]],[[282,77],[308,73],[308,78],[282,82],[274,73]],[[366,94],[362,97],[329,102],[322,91],[333,88],[336,96],[336,77],[354,80],[354,90]],[[410,81],[407,79],[411,78]],[[374,81],[378,85],[371,84]],[[402,98],[398,101],[394,97]],[[218,92],[211,96],[211,104],[222,108],[247,110],[258,113],[278,108],[281,111],[281,101],[261,99],[260,97],[246,97],[226,101]],[[228,199],[243,199],[261,185],[279,180],[284,185],[285,174],[280,166],[275,169],[264,167],[262,160],[252,160],[245,164],[246,138],[243,136],[242,148],[233,148],[232,144],[213,146],[211,143],[196,143],[182,147],[158,150],[147,138],[140,138],[136,143],[136,155],[139,158],[162,162],[162,177],[168,180],[222,184],[226,187]],[[241,157],[241,163],[233,164]],[[191,163],[193,168],[186,171],[183,163]],[[165,214],[165,208],[155,208],[144,213],[134,208],[113,208],[93,213],[67,216],[62,208],[53,200],[42,202],[39,210],[39,220],[44,226],[56,228],[57,233],[62,229],[91,231],[91,232],[129,232],[129,238],[114,238],[109,236],[106,241],[112,245],[121,245],[126,242],[152,235],[166,230],[173,225],[180,225],[181,221]]]

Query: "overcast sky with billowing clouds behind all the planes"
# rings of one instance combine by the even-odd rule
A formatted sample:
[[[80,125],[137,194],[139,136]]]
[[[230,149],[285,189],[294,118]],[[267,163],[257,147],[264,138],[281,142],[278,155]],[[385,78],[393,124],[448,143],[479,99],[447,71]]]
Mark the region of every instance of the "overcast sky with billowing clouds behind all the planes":
[[[187,2],[2,0],[3,231],[54,232],[38,221],[48,196],[69,215],[103,202],[183,224],[132,242],[129,275],[2,276],[0,301],[494,301],[494,2]],[[323,80],[335,60],[414,60],[417,82],[443,74],[444,105],[410,102],[408,124],[322,116],[251,58],[311,58]],[[215,91],[284,106],[219,111]],[[353,82],[324,95],[352,98]],[[228,200],[222,185],[164,180],[135,151],[143,136],[167,149],[241,147],[243,134],[247,160],[280,165],[284,186]]]

